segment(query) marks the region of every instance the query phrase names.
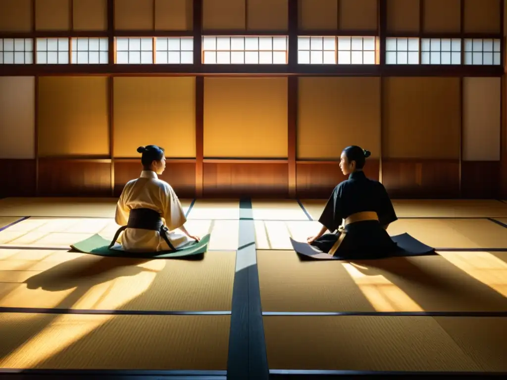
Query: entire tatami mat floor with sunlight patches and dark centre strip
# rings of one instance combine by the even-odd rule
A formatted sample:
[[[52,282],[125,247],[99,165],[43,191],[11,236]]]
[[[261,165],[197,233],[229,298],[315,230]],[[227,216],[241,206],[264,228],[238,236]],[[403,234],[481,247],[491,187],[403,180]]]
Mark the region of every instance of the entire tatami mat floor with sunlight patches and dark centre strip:
[[[69,252],[115,202],[0,200],[0,372],[507,372],[504,202],[393,201],[436,256],[301,261],[322,200],[182,200],[202,260]]]

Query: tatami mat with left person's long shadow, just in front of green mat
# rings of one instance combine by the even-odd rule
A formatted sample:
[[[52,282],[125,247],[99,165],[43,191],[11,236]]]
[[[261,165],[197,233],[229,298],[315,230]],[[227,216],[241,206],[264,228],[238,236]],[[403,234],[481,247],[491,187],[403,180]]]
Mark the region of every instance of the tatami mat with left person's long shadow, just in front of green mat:
[[[202,260],[0,250],[0,307],[230,311],[235,252]]]

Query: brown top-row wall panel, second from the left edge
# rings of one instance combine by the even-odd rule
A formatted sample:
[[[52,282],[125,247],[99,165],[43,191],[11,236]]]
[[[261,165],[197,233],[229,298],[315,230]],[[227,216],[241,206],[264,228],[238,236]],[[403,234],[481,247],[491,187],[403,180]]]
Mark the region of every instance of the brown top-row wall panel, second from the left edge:
[[[35,29],[70,30],[71,0],[35,0]]]

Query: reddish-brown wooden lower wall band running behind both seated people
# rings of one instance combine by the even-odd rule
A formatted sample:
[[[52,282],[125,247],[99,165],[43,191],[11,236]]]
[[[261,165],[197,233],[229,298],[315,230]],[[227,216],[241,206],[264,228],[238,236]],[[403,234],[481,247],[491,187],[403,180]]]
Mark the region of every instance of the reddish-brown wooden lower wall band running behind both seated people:
[[[35,160],[0,160],[0,175],[12,178],[3,196],[33,196]],[[379,179],[379,160],[365,172]],[[111,160],[41,158],[40,196],[111,196]],[[383,183],[392,198],[459,198],[459,160],[385,159]],[[502,162],[463,162],[461,198],[495,198]],[[115,160],[114,196],[142,170],[139,159]],[[196,160],[168,160],[160,177],[180,197],[195,197]],[[297,161],[296,192],[289,195],[288,160],[203,160],[206,198],[327,198],[346,177],[338,161]],[[22,171],[22,175],[19,175]]]

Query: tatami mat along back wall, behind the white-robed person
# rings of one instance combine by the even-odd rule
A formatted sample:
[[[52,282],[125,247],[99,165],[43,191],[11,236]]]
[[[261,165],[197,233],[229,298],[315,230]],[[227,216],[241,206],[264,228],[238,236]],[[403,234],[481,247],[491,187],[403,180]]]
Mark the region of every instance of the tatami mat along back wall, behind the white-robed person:
[[[192,200],[180,199],[187,212]],[[5,198],[0,216],[106,217],[114,218],[118,198]]]

